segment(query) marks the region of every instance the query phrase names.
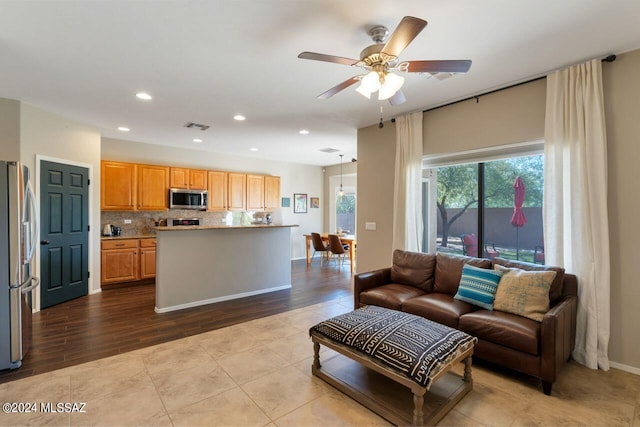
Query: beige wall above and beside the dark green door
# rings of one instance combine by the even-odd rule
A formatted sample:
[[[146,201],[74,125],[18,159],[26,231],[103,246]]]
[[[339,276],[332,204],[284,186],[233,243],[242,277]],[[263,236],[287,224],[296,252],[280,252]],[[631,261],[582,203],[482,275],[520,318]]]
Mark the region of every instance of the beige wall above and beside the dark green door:
[[[31,168],[39,197],[36,156],[90,169],[89,292],[96,292],[100,289],[100,133],[91,126],[21,103],[20,160]],[[39,252],[36,263],[40,263]]]

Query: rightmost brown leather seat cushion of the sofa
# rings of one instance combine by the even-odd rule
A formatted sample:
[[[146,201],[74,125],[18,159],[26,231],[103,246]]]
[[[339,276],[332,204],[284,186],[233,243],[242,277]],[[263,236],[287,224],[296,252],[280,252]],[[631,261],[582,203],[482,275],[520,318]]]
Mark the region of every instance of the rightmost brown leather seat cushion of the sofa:
[[[540,323],[503,311],[477,310],[463,314],[458,329],[515,350],[540,354]]]

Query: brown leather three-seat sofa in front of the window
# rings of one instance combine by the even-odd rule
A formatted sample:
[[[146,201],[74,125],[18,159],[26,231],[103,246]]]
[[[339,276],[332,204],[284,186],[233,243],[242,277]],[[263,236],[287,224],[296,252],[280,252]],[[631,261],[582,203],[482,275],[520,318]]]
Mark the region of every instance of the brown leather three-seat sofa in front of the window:
[[[542,322],[454,299],[465,263],[556,272],[550,309]],[[532,375],[551,394],[558,372],[571,357],[576,334],[578,281],[559,267],[502,258],[492,260],[443,253],[396,250],[393,264],[354,277],[354,306],[377,305],[413,313],[478,338],[474,357]]]

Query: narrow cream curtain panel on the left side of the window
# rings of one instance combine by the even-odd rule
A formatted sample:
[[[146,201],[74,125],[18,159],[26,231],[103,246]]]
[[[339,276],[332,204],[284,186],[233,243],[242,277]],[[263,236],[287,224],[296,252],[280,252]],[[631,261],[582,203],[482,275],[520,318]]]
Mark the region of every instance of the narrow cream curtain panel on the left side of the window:
[[[396,118],[393,248],[422,250],[422,112]]]

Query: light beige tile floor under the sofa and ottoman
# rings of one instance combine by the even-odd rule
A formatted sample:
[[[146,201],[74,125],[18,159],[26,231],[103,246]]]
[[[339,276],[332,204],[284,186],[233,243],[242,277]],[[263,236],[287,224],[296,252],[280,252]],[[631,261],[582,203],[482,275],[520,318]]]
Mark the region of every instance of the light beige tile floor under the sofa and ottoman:
[[[1,402],[82,402],[86,412],[0,413],[0,425],[388,425],[311,376],[309,327],[351,304],[322,303],[2,384]],[[474,389],[440,425],[640,427],[637,375],[570,363],[552,396],[529,377],[480,364],[473,377]]]

